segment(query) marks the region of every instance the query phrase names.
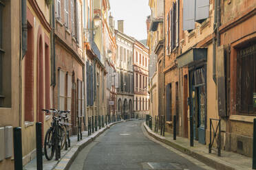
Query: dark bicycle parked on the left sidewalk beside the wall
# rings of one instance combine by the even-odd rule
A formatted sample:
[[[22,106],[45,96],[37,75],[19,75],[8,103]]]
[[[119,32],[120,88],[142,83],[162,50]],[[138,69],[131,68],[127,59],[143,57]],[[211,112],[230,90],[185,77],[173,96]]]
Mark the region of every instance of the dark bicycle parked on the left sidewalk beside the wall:
[[[61,146],[60,149],[63,149],[67,141],[67,126],[70,124],[65,123],[65,121],[67,119],[67,114],[70,114],[70,110],[61,111],[55,109],[43,109],[43,111],[47,113],[52,113],[51,127],[49,128],[49,130],[47,130],[45,134],[44,143],[45,158],[47,160],[52,160],[54,152],[56,152],[56,148],[58,147],[58,145]]]

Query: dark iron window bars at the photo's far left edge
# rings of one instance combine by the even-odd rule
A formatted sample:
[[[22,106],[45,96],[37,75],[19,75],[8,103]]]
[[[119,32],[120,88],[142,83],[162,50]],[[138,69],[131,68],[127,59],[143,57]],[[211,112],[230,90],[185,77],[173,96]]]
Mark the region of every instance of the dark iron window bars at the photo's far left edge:
[[[3,105],[3,42],[2,42],[2,29],[3,29],[3,2],[0,1],[0,107]]]

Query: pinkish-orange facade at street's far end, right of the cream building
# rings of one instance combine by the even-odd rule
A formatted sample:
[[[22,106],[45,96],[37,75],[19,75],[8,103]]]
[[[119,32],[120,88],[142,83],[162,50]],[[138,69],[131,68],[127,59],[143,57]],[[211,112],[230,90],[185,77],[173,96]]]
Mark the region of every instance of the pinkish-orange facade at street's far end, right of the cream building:
[[[134,43],[134,114],[149,114],[149,49],[138,40]]]

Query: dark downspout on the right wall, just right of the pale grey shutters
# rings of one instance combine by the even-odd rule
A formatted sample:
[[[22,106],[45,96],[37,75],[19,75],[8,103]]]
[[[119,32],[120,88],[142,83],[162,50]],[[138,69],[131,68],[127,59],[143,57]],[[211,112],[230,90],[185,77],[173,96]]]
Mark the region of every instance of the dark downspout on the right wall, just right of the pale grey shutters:
[[[216,84],[216,31],[217,31],[217,1],[214,1],[214,23],[213,23],[213,81]]]

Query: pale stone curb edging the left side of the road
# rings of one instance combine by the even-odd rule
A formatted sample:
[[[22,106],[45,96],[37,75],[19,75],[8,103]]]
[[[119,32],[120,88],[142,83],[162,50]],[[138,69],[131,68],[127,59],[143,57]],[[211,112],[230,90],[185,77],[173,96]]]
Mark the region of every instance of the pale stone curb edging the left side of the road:
[[[91,136],[83,139],[82,141],[80,141],[79,143],[76,143],[76,145],[74,145],[70,151],[67,151],[67,154],[65,154],[63,156],[63,158],[61,158],[61,160],[59,160],[59,162],[56,164],[55,167],[53,167],[53,170],[67,170],[70,168],[70,165],[72,165],[72,162],[74,161],[74,159],[76,158],[76,156],[78,156],[79,152],[85,148],[87,145],[89,145],[89,143],[92,143],[92,141],[94,141],[98,136],[100,136],[100,134],[103,134],[106,130],[108,130],[112,125],[116,125],[117,123],[122,123],[125,121],[118,121],[118,122],[114,122],[111,125],[107,125],[104,127],[104,129],[100,129],[98,130],[98,133],[94,133]]]

